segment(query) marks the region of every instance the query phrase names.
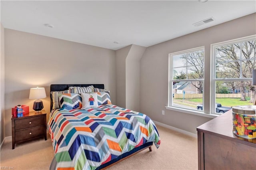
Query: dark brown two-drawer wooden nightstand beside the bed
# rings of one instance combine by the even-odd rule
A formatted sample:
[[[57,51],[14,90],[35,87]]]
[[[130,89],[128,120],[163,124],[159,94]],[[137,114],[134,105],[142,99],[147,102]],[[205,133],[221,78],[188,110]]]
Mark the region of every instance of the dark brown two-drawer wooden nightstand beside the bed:
[[[34,111],[23,115],[23,117],[12,117],[12,149],[16,143],[25,142],[46,136],[46,112],[40,113]]]

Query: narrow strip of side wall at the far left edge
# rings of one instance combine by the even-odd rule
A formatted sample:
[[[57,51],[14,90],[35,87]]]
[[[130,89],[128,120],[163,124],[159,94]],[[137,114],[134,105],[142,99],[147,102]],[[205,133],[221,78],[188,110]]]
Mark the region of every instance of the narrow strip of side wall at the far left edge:
[[[0,144],[4,140],[4,27],[0,27]]]

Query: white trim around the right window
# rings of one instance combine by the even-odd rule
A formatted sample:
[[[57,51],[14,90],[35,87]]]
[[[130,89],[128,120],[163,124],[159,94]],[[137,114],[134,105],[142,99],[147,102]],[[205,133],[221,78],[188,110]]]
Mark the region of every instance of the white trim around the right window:
[[[211,79],[210,79],[210,111],[212,113],[215,113],[215,107],[212,107],[212,106],[215,106],[215,99],[216,99],[216,87],[215,87],[215,82],[216,81],[221,81],[221,80],[224,80],[224,79],[216,79],[215,78],[215,66],[216,66],[216,62],[215,62],[215,47],[216,46],[220,46],[220,45],[229,45],[229,44],[232,44],[232,43],[238,43],[238,42],[244,42],[244,41],[250,41],[250,40],[255,40],[256,39],[256,35],[252,35],[252,36],[247,36],[247,37],[243,37],[243,38],[237,38],[237,39],[234,39],[234,40],[228,40],[228,41],[225,41],[225,42],[218,42],[218,43],[214,43],[214,44],[211,44],[211,68],[210,68],[210,72],[211,72]],[[241,78],[237,78],[237,79],[228,79],[230,81],[234,80],[234,81],[238,81],[240,80]],[[248,81],[248,80],[252,80],[252,79],[243,79],[245,81]]]

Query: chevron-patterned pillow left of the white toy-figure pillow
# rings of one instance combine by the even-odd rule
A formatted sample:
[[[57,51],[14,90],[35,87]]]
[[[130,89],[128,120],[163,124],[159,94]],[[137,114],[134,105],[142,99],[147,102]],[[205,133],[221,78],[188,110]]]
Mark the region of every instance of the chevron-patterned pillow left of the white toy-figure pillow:
[[[82,97],[77,93],[58,94],[60,110],[80,109],[82,107]]]

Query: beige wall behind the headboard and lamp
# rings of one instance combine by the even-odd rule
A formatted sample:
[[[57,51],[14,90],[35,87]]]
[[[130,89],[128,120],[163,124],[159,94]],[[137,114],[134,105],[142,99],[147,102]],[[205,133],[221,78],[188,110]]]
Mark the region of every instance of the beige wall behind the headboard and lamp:
[[[11,136],[11,108],[28,105],[31,87],[45,87],[50,112],[50,84],[104,83],[116,103],[115,51],[5,29],[5,136]],[[48,114],[49,115],[49,114]]]

